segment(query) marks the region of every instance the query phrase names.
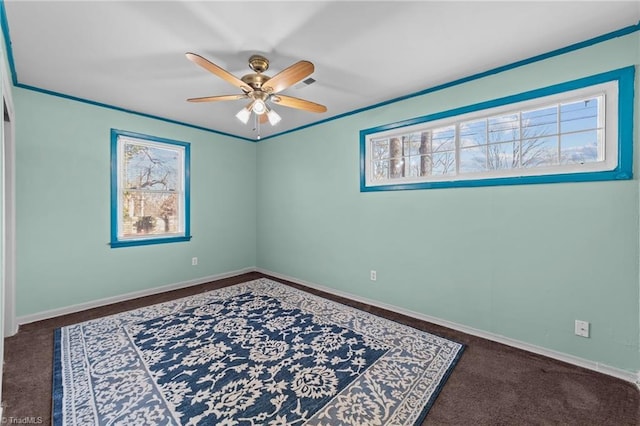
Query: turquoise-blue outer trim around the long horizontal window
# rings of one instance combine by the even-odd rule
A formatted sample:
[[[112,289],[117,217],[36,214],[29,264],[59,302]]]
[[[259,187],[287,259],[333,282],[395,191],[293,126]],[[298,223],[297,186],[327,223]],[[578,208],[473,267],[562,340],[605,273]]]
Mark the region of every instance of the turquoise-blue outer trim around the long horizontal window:
[[[398,129],[416,124],[427,123],[443,118],[455,117],[470,112],[500,107],[517,102],[528,101],[544,96],[556,95],[571,90],[582,89],[597,84],[607,82],[618,83],[618,165],[613,170],[562,173],[550,175],[534,176],[509,176],[487,179],[470,180],[450,180],[434,182],[416,182],[387,185],[366,184],[366,147],[367,136],[387,130]],[[396,123],[385,124],[360,131],[360,192],[375,191],[401,191],[411,189],[437,189],[437,188],[459,188],[459,187],[482,187],[498,185],[524,185],[539,183],[561,183],[561,182],[592,182],[605,180],[625,180],[633,178],[633,114],[634,114],[634,93],[635,66],[628,66],[589,77],[560,83],[541,89],[535,89],[516,95],[503,98],[492,99],[477,104],[454,108],[426,116],[416,117]]]

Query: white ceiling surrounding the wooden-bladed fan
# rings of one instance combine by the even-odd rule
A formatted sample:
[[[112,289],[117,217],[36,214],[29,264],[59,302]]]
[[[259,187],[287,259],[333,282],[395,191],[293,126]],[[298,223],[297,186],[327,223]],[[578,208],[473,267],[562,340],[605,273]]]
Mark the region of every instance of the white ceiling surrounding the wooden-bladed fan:
[[[18,85],[256,139],[247,101],[189,103],[240,90],[188,61],[198,53],[273,76],[306,59],[316,82],[282,94],[264,139],[585,41],[640,21],[640,1],[4,1]]]

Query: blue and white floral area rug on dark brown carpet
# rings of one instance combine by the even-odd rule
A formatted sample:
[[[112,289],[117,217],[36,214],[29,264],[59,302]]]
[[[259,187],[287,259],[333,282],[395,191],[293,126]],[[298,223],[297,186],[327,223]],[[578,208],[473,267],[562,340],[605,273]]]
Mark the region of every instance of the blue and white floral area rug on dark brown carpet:
[[[268,279],[56,330],[55,425],[415,425],[463,345]]]

